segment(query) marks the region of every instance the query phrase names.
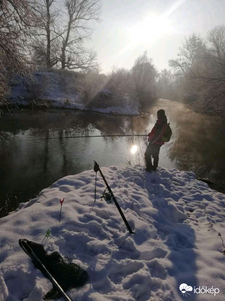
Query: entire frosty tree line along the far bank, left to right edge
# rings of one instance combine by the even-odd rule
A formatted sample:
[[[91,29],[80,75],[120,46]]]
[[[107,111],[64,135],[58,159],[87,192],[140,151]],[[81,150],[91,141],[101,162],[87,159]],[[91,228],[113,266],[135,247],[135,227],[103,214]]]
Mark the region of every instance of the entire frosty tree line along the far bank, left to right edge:
[[[62,0],[60,5],[56,0],[0,0],[0,106],[6,104],[17,75],[60,69],[87,107],[129,98],[143,109],[162,97],[224,115],[224,26],[212,29],[205,39],[196,34],[185,38],[177,58],[169,60],[170,69],[157,71],[144,52],[130,70],[113,68],[105,75],[97,54],[84,47],[100,9],[100,0]]]

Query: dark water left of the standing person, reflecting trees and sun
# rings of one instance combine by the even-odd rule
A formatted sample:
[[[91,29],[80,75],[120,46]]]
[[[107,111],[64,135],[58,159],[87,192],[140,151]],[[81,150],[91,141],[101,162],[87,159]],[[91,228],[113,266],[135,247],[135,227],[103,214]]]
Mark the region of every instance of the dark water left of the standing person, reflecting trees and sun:
[[[148,124],[147,119],[139,120],[60,110],[4,115],[0,123],[0,208],[6,193],[16,207],[14,196],[25,202],[57,179],[87,170],[93,160],[100,166],[143,164],[142,137],[63,138],[139,134]],[[136,154],[130,153],[133,144],[138,145]]]

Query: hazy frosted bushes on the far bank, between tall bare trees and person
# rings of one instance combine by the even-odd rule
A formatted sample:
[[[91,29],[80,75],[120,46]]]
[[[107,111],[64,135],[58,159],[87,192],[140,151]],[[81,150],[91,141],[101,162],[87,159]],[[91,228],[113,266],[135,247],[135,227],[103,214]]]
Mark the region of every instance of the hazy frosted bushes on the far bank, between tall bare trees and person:
[[[95,71],[80,73],[76,85],[88,108],[105,108],[128,102],[143,111],[158,97],[156,78],[157,70],[145,51],[130,70],[114,67],[106,75]]]

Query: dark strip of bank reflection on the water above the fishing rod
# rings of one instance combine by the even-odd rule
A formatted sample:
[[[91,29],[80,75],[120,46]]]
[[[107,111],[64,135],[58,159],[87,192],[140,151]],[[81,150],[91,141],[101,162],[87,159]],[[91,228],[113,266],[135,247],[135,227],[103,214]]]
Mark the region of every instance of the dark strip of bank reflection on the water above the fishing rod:
[[[21,114],[23,115],[21,118]],[[9,117],[9,116],[8,116]],[[90,112],[28,112],[15,113],[8,122],[4,116],[1,131],[11,135],[24,134],[35,137],[90,135],[96,129],[101,135],[143,133],[148,126],[147,118],[103,115]]]

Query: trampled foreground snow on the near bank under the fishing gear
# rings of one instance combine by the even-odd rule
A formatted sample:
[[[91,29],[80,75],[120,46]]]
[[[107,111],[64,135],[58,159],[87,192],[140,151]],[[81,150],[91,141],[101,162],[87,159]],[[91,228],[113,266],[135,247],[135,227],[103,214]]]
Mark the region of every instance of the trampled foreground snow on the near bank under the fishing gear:
[[[100,199],[99,172],[95,203],[93,170],[64,177],[0,219],[0,300],[39,301],[51,288],[19,247],[20,238],[43,243],[88,272],[83,287],[67,291],[72,300],[224,300],[224,195],[176,169],[101,171],[134,234],[113,201]],[[183,283],[192,286],[190,295],[179,290]]]

